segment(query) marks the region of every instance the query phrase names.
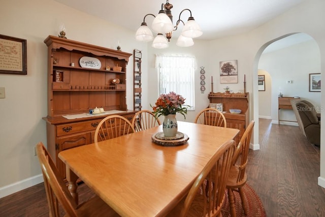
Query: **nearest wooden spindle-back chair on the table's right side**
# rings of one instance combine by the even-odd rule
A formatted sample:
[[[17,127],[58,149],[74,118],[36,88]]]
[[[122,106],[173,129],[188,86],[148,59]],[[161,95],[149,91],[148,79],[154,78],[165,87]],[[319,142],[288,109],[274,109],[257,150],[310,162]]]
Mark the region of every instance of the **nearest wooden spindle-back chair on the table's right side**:
[[[223,143],[194,180],[187,196],[167,216],[219,216],[235,148],[234,140]],[[213,185],[206,179],[211,179]]]

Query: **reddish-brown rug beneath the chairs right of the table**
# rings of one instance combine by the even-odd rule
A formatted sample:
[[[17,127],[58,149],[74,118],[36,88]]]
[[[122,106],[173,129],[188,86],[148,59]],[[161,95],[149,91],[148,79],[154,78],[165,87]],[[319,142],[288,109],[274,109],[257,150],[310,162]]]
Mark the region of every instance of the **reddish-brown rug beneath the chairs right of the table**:
[[[265,213],[263,203],[261,199],[259,199],[258,195],[255,193],[254,189],[246,183],[246,185],[243,186],[243,190],[246,196],[245,202],[247,204],[247,215],[245,215],[244,213],[239,193],[234,191],[237,217],[241,217],[241,216],[265,217],[266,213]],[[226,191],[225,200],[222,205],[221,212],[223,217],[230,216],[230,207],[229,207],[227,191]]]

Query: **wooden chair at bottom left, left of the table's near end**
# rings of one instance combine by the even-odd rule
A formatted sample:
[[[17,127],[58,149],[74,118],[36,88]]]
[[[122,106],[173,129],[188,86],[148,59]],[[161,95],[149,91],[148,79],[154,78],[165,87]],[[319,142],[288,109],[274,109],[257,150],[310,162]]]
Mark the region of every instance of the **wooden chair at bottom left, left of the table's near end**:
[[[42,168],[49,216],[61,216],[59,204],[66,214],[64,216],[119,216],[98,196],[78,205],[64,184],[63,178],[42,142],[36,145],[36,153]]]

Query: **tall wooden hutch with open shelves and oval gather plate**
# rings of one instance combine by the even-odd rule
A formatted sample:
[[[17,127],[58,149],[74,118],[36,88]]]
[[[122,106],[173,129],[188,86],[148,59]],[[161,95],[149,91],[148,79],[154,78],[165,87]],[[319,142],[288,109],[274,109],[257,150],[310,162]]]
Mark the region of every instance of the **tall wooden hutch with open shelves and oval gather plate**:
[[[48,47],[48,113],[43,118],[47,149],[66,177],[59,152],[92,143],[96,126],[109,115],[132,121],[135,111],[126,106],[126,65],[132,54],[51,35],[44,43]],[[90,115],[95,107],[106,112]]]

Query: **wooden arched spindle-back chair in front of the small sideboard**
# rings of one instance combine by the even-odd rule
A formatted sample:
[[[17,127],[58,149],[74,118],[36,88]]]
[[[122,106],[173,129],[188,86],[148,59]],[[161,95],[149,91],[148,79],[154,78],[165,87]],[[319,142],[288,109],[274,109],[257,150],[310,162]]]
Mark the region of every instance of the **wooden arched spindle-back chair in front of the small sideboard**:
[[[224,115],[216,108],[205,108],[204,110],[202,110],[196,116],[194,123],[218,127],[227,127],[227,122],[225,120]]]

